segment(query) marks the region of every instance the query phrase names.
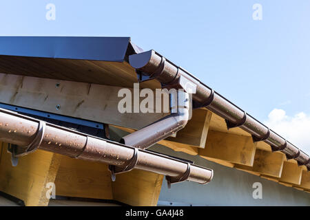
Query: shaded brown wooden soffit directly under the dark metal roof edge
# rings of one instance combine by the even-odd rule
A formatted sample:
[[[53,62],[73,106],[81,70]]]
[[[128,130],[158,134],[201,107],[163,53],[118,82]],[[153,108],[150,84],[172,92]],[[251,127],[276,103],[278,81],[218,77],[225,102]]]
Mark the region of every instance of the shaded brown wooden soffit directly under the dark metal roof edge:
[[[83,83],[132,87],[137,82],[136,71],[127,62],[84,61],[25,56],[0,56],[0,72]],[[147,88],[161,88],[148,80]]]

